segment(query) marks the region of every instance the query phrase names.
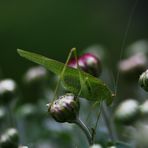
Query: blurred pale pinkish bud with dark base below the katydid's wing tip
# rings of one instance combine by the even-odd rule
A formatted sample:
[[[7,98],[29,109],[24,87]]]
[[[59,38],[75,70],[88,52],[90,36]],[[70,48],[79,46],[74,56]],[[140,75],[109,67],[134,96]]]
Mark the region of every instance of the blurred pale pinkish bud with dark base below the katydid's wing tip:
[[[30,68],[24,75],[24,101],[27,103],[36,103],[45,92],[47,83],[47,70],[44,67],[37,66]]]

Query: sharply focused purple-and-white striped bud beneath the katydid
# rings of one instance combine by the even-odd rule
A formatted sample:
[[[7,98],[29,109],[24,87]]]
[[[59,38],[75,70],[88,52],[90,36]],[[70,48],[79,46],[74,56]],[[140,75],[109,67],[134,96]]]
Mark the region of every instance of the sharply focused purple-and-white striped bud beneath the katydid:
[[[79,108],[78,98],[67,93],[51,103],[48,111],[57,122],[72,123],[77,119]]]

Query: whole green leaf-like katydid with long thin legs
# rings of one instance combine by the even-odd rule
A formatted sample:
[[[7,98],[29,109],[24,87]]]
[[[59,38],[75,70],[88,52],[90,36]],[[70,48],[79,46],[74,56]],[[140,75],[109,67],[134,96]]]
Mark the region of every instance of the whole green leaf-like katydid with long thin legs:
[[[97,102],[97,104],[99,103],[100,105],[103,100],[106,100],[108,104],[112,102],[112,93],[110,89],[105,85],[105,83],[102,82],[100,79],[80,70],[75,48],[71,49],[65,64],[52,59],[48,59],[39,54],[23,51],[20,49],[18,49],[18,53],[22,57],[25,57],[35,63],[41,64],[42,66],[46,67],[47,69],[59,76],[59,81],[54,92],[54,98],[50,105],[54,102],[56,98],[58,98],[57,92],[61,82],[63,86],[66,88],[66,90],[74,93],[78,97],[80,96],[87,100],[94,101],[94,104],[96,104]],[[73,53],[77,61],[77,69],[67,66]],[[96,124],[93,128],[92,135],[87,128],[82,128],[83,130],[85,129],[84,131],[86,133],[86,136],[88,137],[88,141],[90,144],[92,144],[92,142],[94,141],[100,111],[101,109],[99,108],[99,114],[97,116]],[[78,124],[80,127],[84,127],[84,124],[82,124],[83,122],[80,119],[77,121],[78,122],[76,122],[76,124]]]

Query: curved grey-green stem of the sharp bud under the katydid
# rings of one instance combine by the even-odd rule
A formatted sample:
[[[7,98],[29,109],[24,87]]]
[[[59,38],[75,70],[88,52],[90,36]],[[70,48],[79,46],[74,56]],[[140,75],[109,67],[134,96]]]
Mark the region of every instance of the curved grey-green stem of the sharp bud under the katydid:
[[[87,137],[89,145],[90,146],[93,145],[92,134],[88,129],[88,127],[84,124],[84,122],[80,118],[77,118],[77,120],[74,123],[77,124],[82,129],[82,131]]]

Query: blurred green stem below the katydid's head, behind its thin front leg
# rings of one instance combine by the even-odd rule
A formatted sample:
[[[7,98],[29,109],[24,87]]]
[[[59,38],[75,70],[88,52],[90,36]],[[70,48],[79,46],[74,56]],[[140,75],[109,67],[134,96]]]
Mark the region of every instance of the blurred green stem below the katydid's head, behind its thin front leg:
[[[109,119],[109,113],[108,113],[108,110],[107,110],[104,102],[102,104],[102,115],[103,115],[103,119],[105,121],[106,127],[108,129],[110,138],[113,142],[115,142],[116,139],[117,139],[117,134],[116,134],[116,131],[115,131],[115,127],[113,126],[111,120]]]

